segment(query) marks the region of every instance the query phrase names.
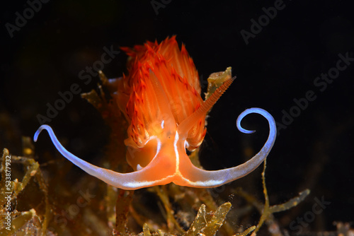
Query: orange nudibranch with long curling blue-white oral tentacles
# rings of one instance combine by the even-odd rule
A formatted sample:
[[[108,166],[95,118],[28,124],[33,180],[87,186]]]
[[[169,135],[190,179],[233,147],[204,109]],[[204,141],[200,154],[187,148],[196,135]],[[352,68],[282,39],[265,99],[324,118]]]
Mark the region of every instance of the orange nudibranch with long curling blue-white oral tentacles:
[[[91,165],[69,153],[46,124],[57,150],[85,172],[120,189],[140,189],[173,182],[186,187],[211,188],[244,177],[261,165],[273,147],[276,126],[273,117],[261,108],[242,112],[236,120],[239,131],[247,114],[261,114],[268,120],[269,135],[261,151],[246,163],[224,170],[195,167],[185,149],[195,150],[205,136],[205,117],[212,105],[231,85],[228,78],[205,101],[200,96],[198,72],[185,46],[178,47],[175,37],[160,44],[146,42],[133,48],[122,47],[130,56],[128,75],[118,79],[115,98],[129,123],[125,146],[127,163],[133,172],[119,173]]]

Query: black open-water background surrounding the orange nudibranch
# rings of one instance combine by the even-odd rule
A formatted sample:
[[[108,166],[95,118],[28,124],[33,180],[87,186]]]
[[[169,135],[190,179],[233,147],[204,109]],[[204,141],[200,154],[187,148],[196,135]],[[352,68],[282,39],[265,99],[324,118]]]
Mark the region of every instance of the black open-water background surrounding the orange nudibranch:
[[[177,35],[204,81],[227,66],[237,76],[210,113],[202,165],[209,170],[231,167],[250,157],[245,148],[253,153],[261,148],[268,135],[262,117],[244,120],[245,127],[258,130],[256,134],[236,129],[236,117],[246,108],[261,107],[282,123],[284,112],[296,109],[294,99],[312,90],[316,99],[280,130],[269,155],[270,203],[287,201],[309,188],[312,194],[287,215],[289,222],[312,211],[314,199],[321,197],[331,203],[316,216],[312,228],[319,218],[326,230],[333,230],[335,221],[352,222],[354,61],[324,91],[314,81],[336,67],[338,54],[354,57],[353,4],[285,0],[284,8],[246,44],[241,30],[251,32],[251,19],[258,21],[265,15],[262,8],[277,1],[156,1],[164,7],[155,6],[155,11],[151,1],[48,1],[13,37],[6,23],[15,25],[16,12],[23,16],[29,5],[16,1],[2,6],[0,147],[21,155],[21,136],[33,136],[40,126],[37,115],[45,115],[47,102],[53,105],[59,91],[69,90],[73,83],[83,92],[96,88],[98,76],[86,85],[79,72],[101,59],[103,47],[118,50]],[[126,59],[120,53],[106,64],[106,76],[121,76]],[[108,129],[79,95],[47,124],[79,157],[94,162],[103,155]],[[38,149],[56,153],[45,135],[40,136]],[[259,194],[259,170],[252,175],[259,179]]]

